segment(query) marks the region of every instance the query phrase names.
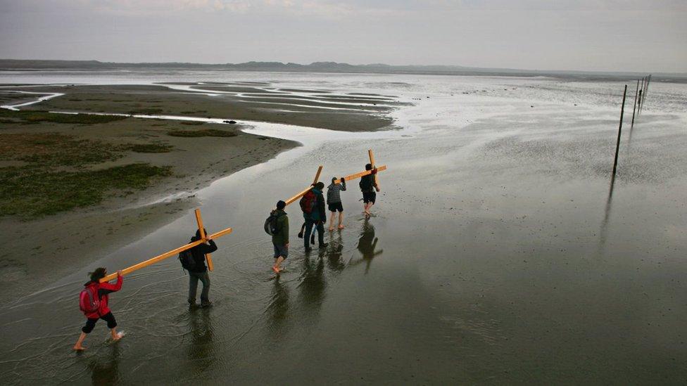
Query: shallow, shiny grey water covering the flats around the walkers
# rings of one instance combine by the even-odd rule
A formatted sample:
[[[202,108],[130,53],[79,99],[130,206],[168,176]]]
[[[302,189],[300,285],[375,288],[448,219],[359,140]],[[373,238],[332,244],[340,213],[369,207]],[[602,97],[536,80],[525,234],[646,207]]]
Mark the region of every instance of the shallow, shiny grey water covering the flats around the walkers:
[[[189,311],[174,258],[125,278],[73,354],[85,273],[169,250],[191,212],[73,275],[0,307],[3,384],[594,382],[687,380],[687,87],[652,84],[626,127],[610,191],[622,84],[557,79],[284,73],[6,75],[0,82],[267,81],[384,94],[414,106],[393,131],[260,124],[303,146],[198,192],[213,254],[211,309]],[[484,91],[482,91],[484,90]],[[463,93],[468,94],[463,94]],[[452,95],[453,94],[453,95]],[[429,96],[429,98],[427,98]],[[534,107],[531,107],[534,106]],[[630,140],[631,135],[631,140]],[[310,255],[287,208],[286,271],[270,271],[262,222],[324,165],[360,170],[373,148],[382,193],[365,220],[355,183],[346,229]]]

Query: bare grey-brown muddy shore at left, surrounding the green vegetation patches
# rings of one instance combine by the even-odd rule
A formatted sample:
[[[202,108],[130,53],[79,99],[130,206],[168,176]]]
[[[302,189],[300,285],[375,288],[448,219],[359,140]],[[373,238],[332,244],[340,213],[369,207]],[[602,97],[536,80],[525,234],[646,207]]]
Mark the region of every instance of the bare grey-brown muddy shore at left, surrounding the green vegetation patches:
[[[273,105],[260,104],[256,108],[255,104],[247,102],[182,93],[165,86],[32,86],[17,89],[65,94],[26,106],[22,108],[24,111],[227,117],[343,130],[374,129],[390,122],[388,117],[379,115],[382,110],[376,110],[374,114],[365,110],[309,112],[308,107],[296,107],[299,112],[287,113],[275,111]],[[0,91],[0,96],[3,103],[16,104],[32,101],[39,95]],[[298,103],[303,104],[303,101]],[[245,134],[241,131],[244,127],[246,125],[240,123],[209,124],[134,117],[100,124],[25,122],[12,116],[4,118],[0,129],[3,139],[41,141],[49,137],[51,141],[58,141],[54,147],[65,146],[59,141],[85,141],[84,146],[98,144],[106,150],[135,145],[162,148],[160,153],[126,151],[115,160],[76,167],[58,165],[52,171],[69,172],[80,167],[99,170],[144,163],[151,167],[168,167],[171,172],[170,176],[156,177],[142,190],[111,189],[96,205],[47,216],[18,214],[1,218],[0,243],[6,247],[0,254],[0,301],[27,295],[31,288],[47,277],[63,276],[84,261],[93,262],[119,250],[151,229],[168,224],[200,205],[194,194],[199,188],[298,146],[294,141]],[[207,129],[228,132],[232,136],[170,135]],[[16,149],[25,149],[25,153],[36,151],[23,143],[18,143],[13,149],[0,149],[0,155],[3,155],[0,168],[27,165],[22,161],[24,155]],[[78,152],[75,149],[67,151]],[[11,152],[17,153],[13,153],[15,157],[9,154]]]

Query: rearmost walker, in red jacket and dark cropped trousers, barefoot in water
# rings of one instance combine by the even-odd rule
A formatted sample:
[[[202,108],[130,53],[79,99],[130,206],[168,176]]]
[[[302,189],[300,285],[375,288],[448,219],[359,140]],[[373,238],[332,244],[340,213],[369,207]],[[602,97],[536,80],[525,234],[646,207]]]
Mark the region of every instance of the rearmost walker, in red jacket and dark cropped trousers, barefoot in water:
[[[98,319],[103,319],[103,321],[108,323],[108,328],[110,328],[113,341],[116,342],[122,337],[122,333],[117,333],[117,321],[115,321],[115,316],[112,314],[112,311],[110,311],[110,307],[108,307],[109,294],[111,292],[117,292],[122,288],[122,281],[124,281],[122,278],[122,271],[117,271],[117,283],[115,284],[100,283],[100,279],[107,276],[107,270],[104,268],[96,269],[90,275],[91,280],[84,284],[84,287],[87,287],[89,290],[93,290],[94,292],[97,291],[98,298],[100,300],[100,307],[97,311],[86,315],[86,326],[81,329],[79,340],[77,340],[76,345],[74,345],[74,349],[77,351],[81,351],[86,348],[82,345],[84,339],[86,339],[86,335],[88,335],[96,326]]]

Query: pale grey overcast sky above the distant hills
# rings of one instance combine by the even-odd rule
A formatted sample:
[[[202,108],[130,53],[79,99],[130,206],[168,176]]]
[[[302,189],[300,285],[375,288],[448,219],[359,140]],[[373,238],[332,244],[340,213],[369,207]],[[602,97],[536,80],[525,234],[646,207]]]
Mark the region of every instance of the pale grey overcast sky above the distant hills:
[[[687,0],[0,0],[0,58],[687,72]]]

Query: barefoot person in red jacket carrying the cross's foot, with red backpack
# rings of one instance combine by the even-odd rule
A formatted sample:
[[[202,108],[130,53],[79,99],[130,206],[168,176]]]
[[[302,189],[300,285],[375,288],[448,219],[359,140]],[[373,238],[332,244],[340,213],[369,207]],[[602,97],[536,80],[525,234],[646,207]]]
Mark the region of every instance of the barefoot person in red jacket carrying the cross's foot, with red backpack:
[[[87,320],[86,325],[81,329],[79,339],[73,347],[76,351],[86,349],[83,346],[84,339],[96,326],[98,319],[103,319],[103,321],[107,322],[114,342],[120,340],[123,336],[122,333],[117,333],[117,321],[112,311],[110,311],[110,307],[108,307],[109,294],[117,292],[122,288],[122,282],[124,281],[122,271],[117,271],[117,283],[115,284],[100,283],[100,279],[107,276],[107,270],[104,268],[98,268],[89,275],[91,280],[84,284],[84,289],[79,297],[81,311],[83,311]]]

